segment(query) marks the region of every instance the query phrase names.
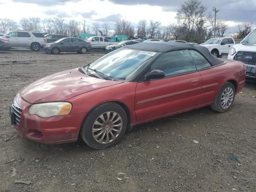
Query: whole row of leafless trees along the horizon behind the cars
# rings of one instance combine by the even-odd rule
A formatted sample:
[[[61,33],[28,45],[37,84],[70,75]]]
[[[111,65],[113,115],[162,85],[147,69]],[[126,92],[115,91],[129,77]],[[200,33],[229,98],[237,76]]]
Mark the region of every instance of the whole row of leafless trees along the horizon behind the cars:
[[[47,34],[115,34],[133,37],[147,36],[163,40],[186,40],[187,42],[203,42],[214,37],[214,16],[207,13],[207,7],[199,0],[188,0],[180,5],[176,14],[176,22],[163,26],[160,21],[140,20],[135,27],[128,20],[117,20],[111,28],[108,23],[94,22],[89,25],[86,20],[64,20],[62,16],[54,18],[22,18],[19,22],[8,18],[0,19],[0,32],[7,33],[12,30],[35,30]],[[224,20],[216,19],[216,37],[224,37],[228,25]],[[252,30],[252,23],[245,22],[238,26],[238,38],[244,38]]]

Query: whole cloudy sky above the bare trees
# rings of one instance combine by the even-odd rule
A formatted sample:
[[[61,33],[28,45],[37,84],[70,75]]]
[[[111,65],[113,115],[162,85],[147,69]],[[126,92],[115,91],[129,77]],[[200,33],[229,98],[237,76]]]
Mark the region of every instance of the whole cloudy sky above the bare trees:
[[[109,22],[118,19],[130,20],[136,27],[138,20],[158,20],[162,25],[175,22],[177,8],[185,0],[0,0],[0,18],[18,22],[23,17],[53,18],[61,15],[66,20],[85,19],[92,22]],[[229,32],[236,32],[242,22],[256,20],[256,0],[202,0],[212,12],[220,9],[217,16],[226,20]],[[246,11],[230,11],[246,10]]]

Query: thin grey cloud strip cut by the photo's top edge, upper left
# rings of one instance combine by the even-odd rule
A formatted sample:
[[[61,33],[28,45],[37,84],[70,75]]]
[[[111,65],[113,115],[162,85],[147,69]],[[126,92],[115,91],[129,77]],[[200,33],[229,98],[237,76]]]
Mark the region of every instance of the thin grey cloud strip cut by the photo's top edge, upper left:
[[[16,3],[33,3],[40,6],[52,6],[52,5],[62,5],[67,2],[78,2],[80,0],[12,0]]]

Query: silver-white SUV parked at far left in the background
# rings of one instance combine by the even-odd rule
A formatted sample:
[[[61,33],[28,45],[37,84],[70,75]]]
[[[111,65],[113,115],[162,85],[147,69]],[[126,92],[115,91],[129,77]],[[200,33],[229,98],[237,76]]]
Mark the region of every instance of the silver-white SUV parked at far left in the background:
[[[44,34],[37,31],[11,31],[3,38],[8,39],[12,47],[29,47],[33,51],[39,51],[47,44]]]

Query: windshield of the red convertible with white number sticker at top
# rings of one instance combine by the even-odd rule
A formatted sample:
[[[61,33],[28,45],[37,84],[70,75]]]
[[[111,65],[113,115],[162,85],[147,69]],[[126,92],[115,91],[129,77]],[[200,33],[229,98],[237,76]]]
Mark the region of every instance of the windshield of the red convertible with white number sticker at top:
[[[157,55],[158,52],[120,48],[96,60],[90,64],[90,68],[103,73],[108,79],[129,81],[144,67],[146,61]]]

